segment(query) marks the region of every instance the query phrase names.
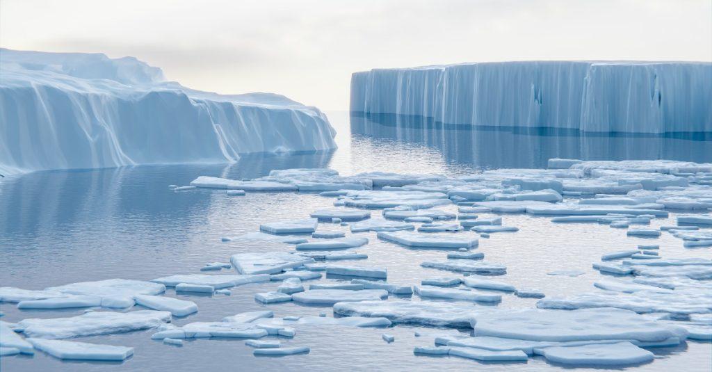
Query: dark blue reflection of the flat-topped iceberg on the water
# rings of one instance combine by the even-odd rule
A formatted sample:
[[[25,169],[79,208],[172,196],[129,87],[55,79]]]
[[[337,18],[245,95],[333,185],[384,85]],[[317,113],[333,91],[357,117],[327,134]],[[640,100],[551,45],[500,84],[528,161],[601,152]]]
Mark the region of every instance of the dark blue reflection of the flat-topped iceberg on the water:
[[[439,150],[446,162],[471,167],[546,167],[552,157],[584,160],[712,161],[709,133],[600,135],[555,128],[494,128],[436,123],[429,118],[351,113],[352,136]]]

